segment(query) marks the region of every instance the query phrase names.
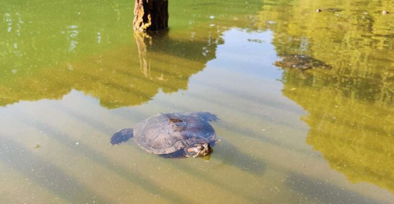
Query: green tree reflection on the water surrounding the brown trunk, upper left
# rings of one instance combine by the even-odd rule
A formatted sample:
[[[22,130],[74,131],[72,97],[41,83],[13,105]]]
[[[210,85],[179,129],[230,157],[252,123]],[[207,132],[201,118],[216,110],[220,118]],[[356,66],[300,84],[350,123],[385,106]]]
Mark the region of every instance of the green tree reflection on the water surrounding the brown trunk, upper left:
[[[253,24],[252,20],[245,24],[245,12],[238,11],[240,3],[228,4],[222,10],[182,2],[176,8],[201,10],[199,15],[184,10],[173,12],[175,25],[170,32],[150,38],[153,44],[143,48],[144,40],[139,39],[144,37],[131,37],[128,19],[133,12],[129,2],[87,4],[107,11],[106,17],[87,10],[88,6],[52,8],[45,4],[45,13],[36,7],[27,11],[18,4],[1,8],[6,11],[6,28],[0,29],[0,52],[5,58],[0,62],[4,71],[0,76],[0,106],[60,99],[72,89],[98,98],[107,108],[139,105],[159,90],[172,93],[186,89],[188,78],[215,57],[216,47],[223,43],[223,31]],[[27,24],[23,24],[23,16],[28,16]],[[57,20],[53,21],[53,16]],[[142,61],[136,60],[139,55]]]

